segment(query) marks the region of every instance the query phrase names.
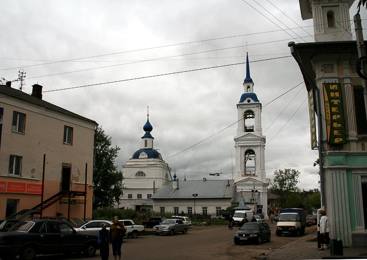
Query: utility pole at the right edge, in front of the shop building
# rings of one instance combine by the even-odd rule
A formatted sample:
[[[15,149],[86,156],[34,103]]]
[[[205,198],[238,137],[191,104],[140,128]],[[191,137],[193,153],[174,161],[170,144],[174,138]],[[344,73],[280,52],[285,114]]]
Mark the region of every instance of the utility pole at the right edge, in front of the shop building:
[[[362,20],[361,15],[357,13],[354,17],[354,28],[356,30],[356,40],[357,40],[357,49],[358,49],[358,58],[364,57],[362,59],[362,74],[367,77],[367,64],[366,64],[366,48],[365,48],[365,41],[363,40],[363,32],[362,32]],[[365,99],[365,111],[367,116],[367,83],[365,79],[362,79],[362,86],[363,86],[363,96]]]

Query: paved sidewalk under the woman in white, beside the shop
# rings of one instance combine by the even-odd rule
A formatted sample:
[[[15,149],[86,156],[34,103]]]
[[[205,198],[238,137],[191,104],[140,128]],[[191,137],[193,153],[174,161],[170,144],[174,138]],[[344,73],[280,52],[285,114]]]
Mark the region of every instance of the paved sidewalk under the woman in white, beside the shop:
[[[324,251],[317,250],[316,232],[290,242],[266,256],[256,259],[367,259],[367,247],[343,247],[343,256],[331,256],[330,247]]]

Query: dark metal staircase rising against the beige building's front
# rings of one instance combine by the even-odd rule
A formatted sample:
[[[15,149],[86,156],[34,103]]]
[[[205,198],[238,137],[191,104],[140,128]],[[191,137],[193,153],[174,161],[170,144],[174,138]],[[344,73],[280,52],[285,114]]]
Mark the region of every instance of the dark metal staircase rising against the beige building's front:
[[[40,204],[34,206],[31,209],[23,209],[23,210],[15,213],[14,215],[11,215],[7,219],[22,220],[24,217],[26,217],[28,215],[34,215],[34,214],[40,215],[41,214],[41,206],[42,206],[42,210],[45,210],[46,208],[48,208],[52,204],[58,202],[59,200],[64,199],[65,197],[68,197],[69,195],[71,195],[71,196],[85,196],[86,194],[85,194],[84,191],[60,191],[59,193],[56,193],[52,197],[45,200],[43,203],[40,203]]]

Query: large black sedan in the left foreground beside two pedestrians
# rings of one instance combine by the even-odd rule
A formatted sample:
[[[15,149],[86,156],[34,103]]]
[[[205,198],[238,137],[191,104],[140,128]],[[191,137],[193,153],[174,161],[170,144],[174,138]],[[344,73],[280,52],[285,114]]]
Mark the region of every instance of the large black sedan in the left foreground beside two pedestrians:
[[[0,233],[0,258],[34,260],[38,254],[83,252],[93,257],[98,237],[77,233],[63,220],[21,220],[8,232]]]

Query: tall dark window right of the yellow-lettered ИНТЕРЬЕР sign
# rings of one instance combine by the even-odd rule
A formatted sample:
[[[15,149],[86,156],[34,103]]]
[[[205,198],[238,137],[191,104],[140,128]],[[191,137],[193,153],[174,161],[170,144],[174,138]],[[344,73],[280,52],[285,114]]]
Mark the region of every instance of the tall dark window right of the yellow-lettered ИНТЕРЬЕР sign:
[[[354,92],[354,110],[357,122],[357,134],[367,133],[367,120],[366,120],[366,108],[365,99],[363,94],[362,86],[355,86],[353,88]]]

